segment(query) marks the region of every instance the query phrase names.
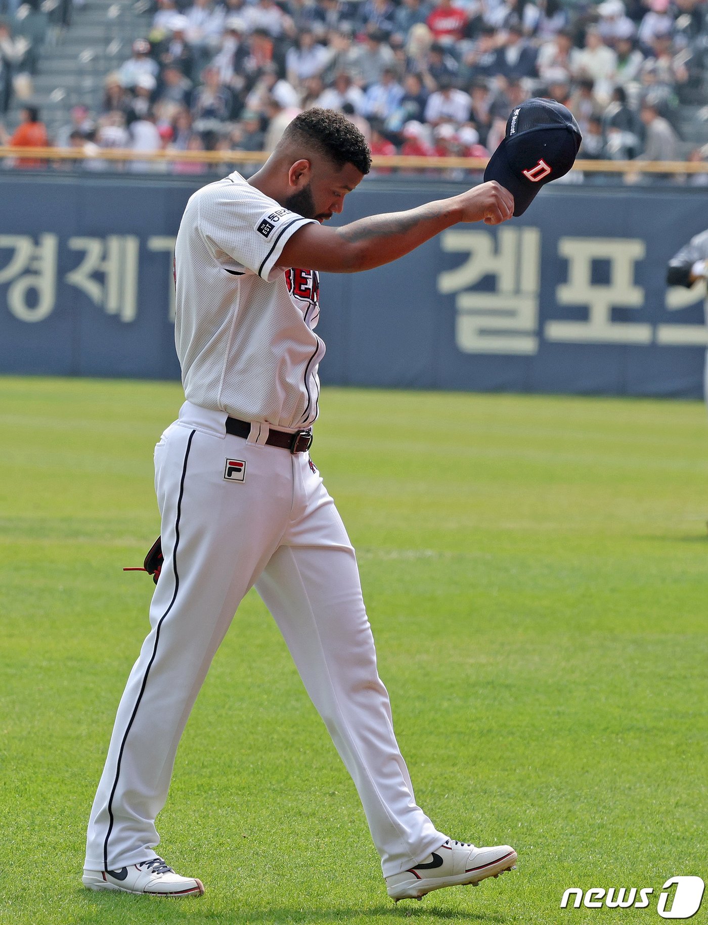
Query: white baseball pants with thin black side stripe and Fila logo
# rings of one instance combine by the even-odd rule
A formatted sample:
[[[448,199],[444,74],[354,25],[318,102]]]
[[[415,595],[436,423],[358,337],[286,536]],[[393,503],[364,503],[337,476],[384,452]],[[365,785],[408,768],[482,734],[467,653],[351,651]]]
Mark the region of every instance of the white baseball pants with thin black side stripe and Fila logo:
[[[234,612],[255,585],[354,779],[384,876],[400,873],[446,836],[416,806],[354,549],[308,454],[265,446],[267,427],[232,437],[225,420],[185,402],[155,448],[165,563],[152,630],[118,706],[85,866],[119,870],[155,857],[155,817],[180,735]],[[230,478],[228,462],[236,463]]]

